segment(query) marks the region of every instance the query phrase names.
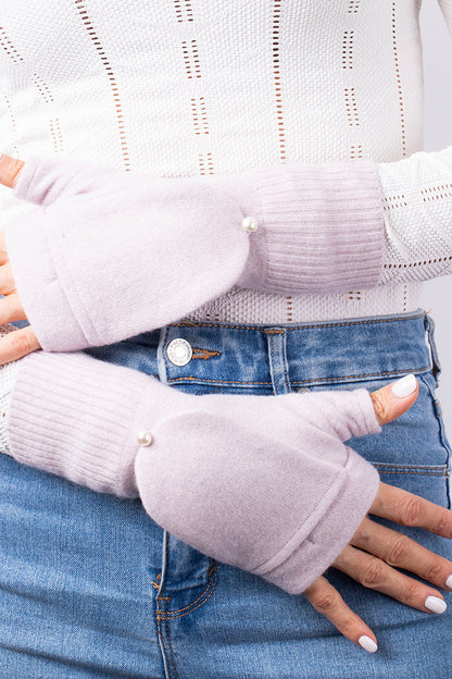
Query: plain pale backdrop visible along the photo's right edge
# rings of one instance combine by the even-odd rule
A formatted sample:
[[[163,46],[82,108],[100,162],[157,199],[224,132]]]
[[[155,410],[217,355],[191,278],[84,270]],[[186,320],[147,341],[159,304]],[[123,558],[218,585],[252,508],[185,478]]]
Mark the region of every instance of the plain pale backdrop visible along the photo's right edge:
[[[426,151],[452,145],[452,36],[437,0],[423,0],[420,23],[425,67]],[[452,177],[451,177],[452,178]],[[449,439],[452,441],[452,277],[426,284],[423,306],[436,322],[436,338],[442,366],[438,396]]]

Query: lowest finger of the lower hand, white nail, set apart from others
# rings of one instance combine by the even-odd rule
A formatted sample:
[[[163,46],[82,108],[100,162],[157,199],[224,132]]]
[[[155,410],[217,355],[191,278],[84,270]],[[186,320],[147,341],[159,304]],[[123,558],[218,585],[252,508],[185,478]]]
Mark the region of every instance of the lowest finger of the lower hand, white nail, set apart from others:
[[[378,646],[374,632],[360,616],[349,608],[339,592],[326,578],[317,578],[303,594],[310,604],[330,620],[341,634],[369,653],[375,653]]]

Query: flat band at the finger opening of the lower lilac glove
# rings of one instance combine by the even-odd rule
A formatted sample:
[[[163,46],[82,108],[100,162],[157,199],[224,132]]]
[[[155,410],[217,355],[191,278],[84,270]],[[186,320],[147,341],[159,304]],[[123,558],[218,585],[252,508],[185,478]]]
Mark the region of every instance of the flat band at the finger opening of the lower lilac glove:
[[[307,538],[293,548],[293,540],[272,563],[254,570],[255,575],[277,584],[290,594],[301,594],[334,563],[352,539],[368,513],[378,492],[375,467],[348,448],[343,483],[322,520]]]

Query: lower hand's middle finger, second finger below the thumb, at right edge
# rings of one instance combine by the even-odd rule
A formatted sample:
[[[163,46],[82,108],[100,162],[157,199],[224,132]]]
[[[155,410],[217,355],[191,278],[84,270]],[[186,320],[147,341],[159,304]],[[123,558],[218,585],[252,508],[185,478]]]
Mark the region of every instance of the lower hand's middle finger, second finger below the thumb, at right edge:
[[[427,582],[452,590],[452,563],[426,550],[417,542],[367,517],[350,541],[385,560],[389,566],[416,573]],[[450,585],[448,585],[450,582]]]

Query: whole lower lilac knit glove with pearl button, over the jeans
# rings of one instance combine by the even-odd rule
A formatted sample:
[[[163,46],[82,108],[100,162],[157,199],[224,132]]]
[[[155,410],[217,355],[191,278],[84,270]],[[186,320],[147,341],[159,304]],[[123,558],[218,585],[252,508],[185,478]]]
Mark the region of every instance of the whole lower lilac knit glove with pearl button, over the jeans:
[[[22,359],[10,415],[17,461],[139,496],[176,538],[291,593],[371,507],[378,473],[343,442],[379,431],[364,390],[196,396],[83,353]]]

